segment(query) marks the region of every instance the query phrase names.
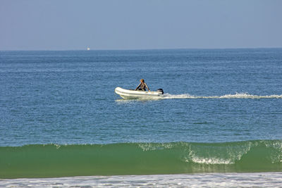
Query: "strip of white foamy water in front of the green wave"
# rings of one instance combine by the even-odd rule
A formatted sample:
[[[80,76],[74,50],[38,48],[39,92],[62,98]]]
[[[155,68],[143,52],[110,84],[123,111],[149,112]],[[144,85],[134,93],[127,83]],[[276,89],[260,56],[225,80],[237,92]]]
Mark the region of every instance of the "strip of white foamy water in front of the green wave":
[[[282,173],[116,175],[1,180],[0,187],[281,187]]]

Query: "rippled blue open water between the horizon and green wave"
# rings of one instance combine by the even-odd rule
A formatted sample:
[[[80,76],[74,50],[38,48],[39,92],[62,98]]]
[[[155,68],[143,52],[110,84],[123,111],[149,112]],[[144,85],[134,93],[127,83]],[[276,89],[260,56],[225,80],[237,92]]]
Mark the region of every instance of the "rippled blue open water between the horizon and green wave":
[[[282,49],[1,51],[0,146],[281,139],[281,80]]]

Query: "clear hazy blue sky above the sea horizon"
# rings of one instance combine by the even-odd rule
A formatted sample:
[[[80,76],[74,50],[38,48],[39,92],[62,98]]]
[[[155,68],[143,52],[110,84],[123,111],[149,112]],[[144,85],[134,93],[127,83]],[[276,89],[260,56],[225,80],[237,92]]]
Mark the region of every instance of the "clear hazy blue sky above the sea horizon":
[[[0,50],[282,47],[280,0],[0,0]]]

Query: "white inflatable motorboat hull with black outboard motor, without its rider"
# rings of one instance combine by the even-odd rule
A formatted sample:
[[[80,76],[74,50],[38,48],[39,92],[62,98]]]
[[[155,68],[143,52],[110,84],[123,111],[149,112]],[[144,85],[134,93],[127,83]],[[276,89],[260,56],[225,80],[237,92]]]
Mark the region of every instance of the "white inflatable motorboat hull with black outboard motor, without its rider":
[[[123,99],[159,99],[160,97],[164,96],[163,89],[157,89],[157,92],[147,92],[116,87],[115,92],[116,94],[119,94]]]

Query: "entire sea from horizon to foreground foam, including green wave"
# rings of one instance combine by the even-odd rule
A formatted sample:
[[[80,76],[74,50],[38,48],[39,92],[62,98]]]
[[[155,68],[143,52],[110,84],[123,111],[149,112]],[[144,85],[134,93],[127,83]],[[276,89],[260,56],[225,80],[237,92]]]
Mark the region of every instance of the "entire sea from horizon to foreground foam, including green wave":
[[[282,49],[0,51],[0,187],[282,187]]]

